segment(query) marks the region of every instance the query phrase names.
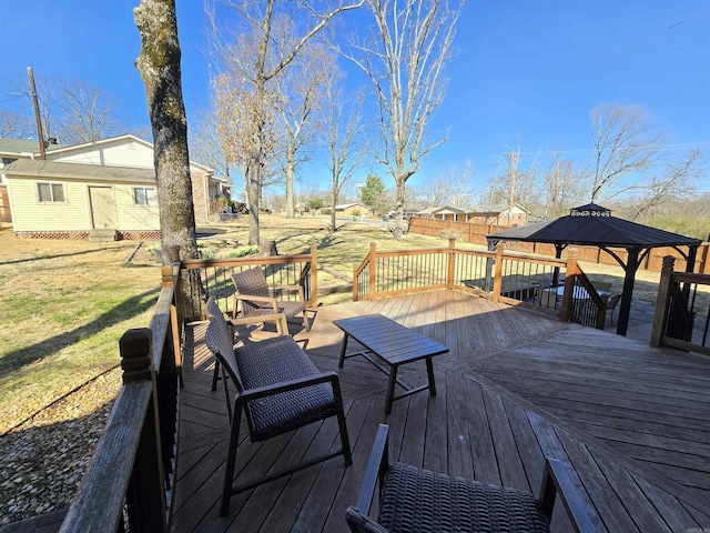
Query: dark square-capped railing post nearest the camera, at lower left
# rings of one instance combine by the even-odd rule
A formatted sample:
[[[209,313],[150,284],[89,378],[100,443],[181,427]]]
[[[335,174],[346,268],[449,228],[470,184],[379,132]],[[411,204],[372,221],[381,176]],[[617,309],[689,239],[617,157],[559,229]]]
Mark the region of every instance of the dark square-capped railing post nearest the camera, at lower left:
[[[149,328],[128,330],[119,341],[123,384],[138,380],[150,380],[153,384],[125,497],[131,531],[165,532],[166,503],[152,342]]]

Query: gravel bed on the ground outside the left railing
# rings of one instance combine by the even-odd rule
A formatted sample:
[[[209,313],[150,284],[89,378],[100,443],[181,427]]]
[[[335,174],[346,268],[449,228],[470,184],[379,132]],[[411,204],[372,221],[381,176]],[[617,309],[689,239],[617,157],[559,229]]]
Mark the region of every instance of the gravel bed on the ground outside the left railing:
[[[69,505],[120,386],[114,369],[0,438],[0,526]]]

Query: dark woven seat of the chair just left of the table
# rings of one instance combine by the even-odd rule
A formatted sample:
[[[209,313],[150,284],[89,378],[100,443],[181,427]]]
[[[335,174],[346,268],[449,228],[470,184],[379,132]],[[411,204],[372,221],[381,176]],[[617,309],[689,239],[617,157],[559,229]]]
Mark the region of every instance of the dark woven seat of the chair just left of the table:
[[[320,374],[305,352],[286,335],[245,344],[234,353],[245,390]],[[328,383],[252,400],[246,412],[253,441],[263,441],[336,413]]]

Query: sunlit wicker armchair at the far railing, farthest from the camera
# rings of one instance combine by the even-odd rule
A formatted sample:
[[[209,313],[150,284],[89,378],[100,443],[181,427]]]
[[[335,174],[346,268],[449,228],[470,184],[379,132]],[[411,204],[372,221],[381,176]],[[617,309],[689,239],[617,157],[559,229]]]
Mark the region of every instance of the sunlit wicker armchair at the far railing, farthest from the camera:
[[[311,331],[306,316],[306,301],[301,285],[268,285],[264,271],[260,268],[235,272],[232,274],[232,281],[236,288],[232,308],[234,318],[236,318],[237,304],[241,302],[244,316],[283,313],[286,319],[292,319],[303,313],[303,326],[306,331]],[[271,295],[270,289],[297,291],[298,301],[280,301]]]

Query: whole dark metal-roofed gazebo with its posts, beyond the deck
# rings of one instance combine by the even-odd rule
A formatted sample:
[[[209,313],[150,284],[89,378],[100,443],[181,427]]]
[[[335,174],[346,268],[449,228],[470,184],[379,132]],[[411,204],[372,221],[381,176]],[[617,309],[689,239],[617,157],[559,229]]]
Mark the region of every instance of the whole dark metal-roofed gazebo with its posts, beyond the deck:
[[[636,271],[650,250],[662,247],[673,248],[686,260],[686,270],[692,272],[698,247],[702,243],[699,239],[611,217],[610,209],[596,203],[574,208],[567,217],[493,233],[486,239],[490,250],[501,241],[554,244],[555,255],[558,259],[561,258],[562,250],[570,244],[598,247],[607,252],[626,273],[617,324],[617,333],[620,335],[626,335],[629,324]],[[626,249],[626,262],[611,250],[613,248]]]

